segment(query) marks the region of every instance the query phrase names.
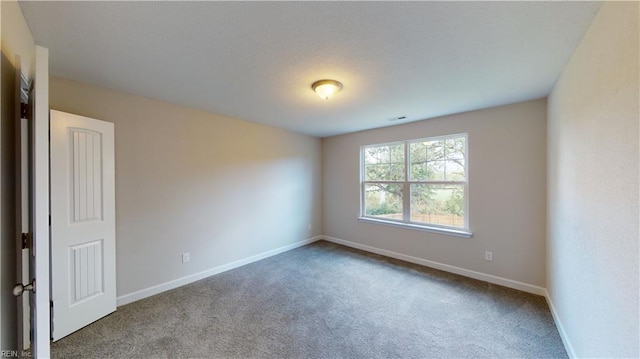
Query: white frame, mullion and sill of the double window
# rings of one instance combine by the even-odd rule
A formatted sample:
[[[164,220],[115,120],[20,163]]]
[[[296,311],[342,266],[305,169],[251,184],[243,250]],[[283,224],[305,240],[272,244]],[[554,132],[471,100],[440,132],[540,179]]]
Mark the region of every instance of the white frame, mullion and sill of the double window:
[[[410,147],[412,143],[426,142],[426,141],[442,141],[452,138],[464,137],[464,181],[417,181],[410,179],[411,161],[410,161]],[[402,181],[366,181],[365,180],[365,150],[372,147],[392,146],[392,145],[404,145],[404,180]],[[408,228],[414,230],[421,230],[427,232],[441,233],[458,237],[470,238],[473,234],[469,231],[469,136],[467,133],[458,133],[445,136],[435,136],[426,138],[417,138],[405,141],[376,143],[370,145],[360,146],[360,216],[359,221],[369,222],[382,225],[390,225],[401,228]],[[396,220],[391,218],[379,218],[374,216],[368,216],[365,211],[365,186],[372,183],[394,183],[402,185],[402,220]],[[445,226],[439,224],[412,222],[411,221],[411,185],[412,184],[457,184],[462,185],[464,190],[464,228]]]

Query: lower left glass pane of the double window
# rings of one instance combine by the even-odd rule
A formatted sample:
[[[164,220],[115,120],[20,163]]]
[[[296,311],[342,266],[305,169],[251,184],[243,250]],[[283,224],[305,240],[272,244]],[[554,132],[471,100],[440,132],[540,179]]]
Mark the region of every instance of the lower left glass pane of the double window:
[[[402,220],[401,184],[367,184],[364,192],[365,215]]]

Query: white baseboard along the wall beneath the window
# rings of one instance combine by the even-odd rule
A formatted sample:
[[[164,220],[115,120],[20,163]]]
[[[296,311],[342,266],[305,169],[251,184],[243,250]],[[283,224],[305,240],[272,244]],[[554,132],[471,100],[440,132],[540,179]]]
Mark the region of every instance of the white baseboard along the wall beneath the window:
[[[544,296],[546,293],[546,289],[542,287],[538,287],[536,285],[527,284],[523,282],[518,282],[512,279],[502,278],[502,277],[494,276],[491,274],[480,273],[480,272],[476,272],[469,269],[464,269],[464,268],[460,268],[460,267],[456,267],[456,266],[452,266],[444,263],[438,263],[438,262],[430,261],[427,259],[422,259],[418,257],[409,256],[406,254],[388,251],[386,249],[380,249],[376,247],[367,246],[365,244],[347,241],[340,238],[329,237],[329,236],[323,236],[322,238],[326,241],[342,244],[347,247],[356,248],[356,249],[360,249],[360,250],[375,253],[375,254],[380,254],[386,257],[400,259],[405,262],[415,263],[415,264],[423,265],[425,267],[435,268],[435,269],[439,269],[449,273],[459,274],[461,276],[478,279],[481,281],[501,285],[508,288],[517,289],[527,293],[537,294],[541,296]]]

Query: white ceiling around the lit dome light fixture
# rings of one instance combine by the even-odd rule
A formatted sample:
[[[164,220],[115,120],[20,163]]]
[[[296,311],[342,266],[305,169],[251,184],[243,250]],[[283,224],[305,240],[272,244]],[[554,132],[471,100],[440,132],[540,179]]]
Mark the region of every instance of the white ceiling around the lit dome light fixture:
[[[545,97],[600,5],[20,3],[54,75],[318,137]]]

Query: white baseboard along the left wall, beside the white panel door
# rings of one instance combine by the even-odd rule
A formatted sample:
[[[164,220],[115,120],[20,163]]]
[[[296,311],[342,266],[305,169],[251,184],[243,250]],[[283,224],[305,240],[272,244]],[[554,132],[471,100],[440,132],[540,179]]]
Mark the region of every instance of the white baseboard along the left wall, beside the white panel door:
[[[133,293],[125,294],[125,295],[122,295],[122,296],[116,298],[116,303],[117,303],[117,306],[129,304],[129,303],[135,302],[137,300],[150,297],[152,295],[156,295],[156,294],[159,294],[159,293],[162,293],[162,292],[174,289],[174,288],[181,287],[181,286],[189,284],[189,283],[193,283],[193,282],[199,281],[201,279],[210,277],[212,275],[216,275],[216,274],[219,274],[219,273],[222,273],[222,272],[226,272],[228,270],[235,269],[235,268],[241,267],[241,266],[249,264],[249,263],[257,262],[257,261],[259,261],[261,259],[265,259],[265,258],[268,258],[268,257],[271,257],[271,256],[275,256],[277,254],[284,253],[284,252],[290,251],[290,250],[298,248],[298,247],[306,246],[307,244],[313,243],[313,242],[318,241],[318,240],[320,240],[322,238],[323,238],[323,236],[315,236],[315,237],[308,238],[308,239],[305,239],[305,240],[300,241],[300,242],[296,242],[296,243],[292,243],[292,244],[286,245],[284,247],[272,249],[270,251],[267,251],[267,252],[264,252],[264,253],[260,253],[260,254],[256,254],[256,255],[248,257],[248,258],[240,259],[240,260],[228,263],[228,264],[223,264],[223,265],[215,267],[215,268],[207,269],[207,270],[199,272],[199,273],[191,274],[191,275],[188,275],[186,277],[174,279],[174,280],[169,281],[169,282],[165,282],[165,283],[162,283],[162,284],[154,285],[152,287],[145,288],[145,289],[133,292]]]

